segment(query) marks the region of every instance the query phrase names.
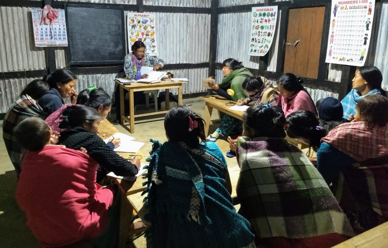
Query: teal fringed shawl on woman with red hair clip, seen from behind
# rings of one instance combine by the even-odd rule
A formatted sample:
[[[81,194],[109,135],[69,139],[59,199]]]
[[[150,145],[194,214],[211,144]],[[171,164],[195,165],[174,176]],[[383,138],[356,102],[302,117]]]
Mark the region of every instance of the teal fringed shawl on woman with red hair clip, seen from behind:
[[[250,245],[254,237],[249,223],[236,213],[225,188],[226,165],[206,149],[191,149],[183,142],[151,142],[145,219],[151,222],[147,238],[153,247]]]

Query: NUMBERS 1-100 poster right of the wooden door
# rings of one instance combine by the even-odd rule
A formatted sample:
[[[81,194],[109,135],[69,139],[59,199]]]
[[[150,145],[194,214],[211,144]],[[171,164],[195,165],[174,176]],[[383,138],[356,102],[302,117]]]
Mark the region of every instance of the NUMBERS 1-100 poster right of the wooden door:
[[[372,38],[374,2],[332,0],[326,63],[364,66]]]

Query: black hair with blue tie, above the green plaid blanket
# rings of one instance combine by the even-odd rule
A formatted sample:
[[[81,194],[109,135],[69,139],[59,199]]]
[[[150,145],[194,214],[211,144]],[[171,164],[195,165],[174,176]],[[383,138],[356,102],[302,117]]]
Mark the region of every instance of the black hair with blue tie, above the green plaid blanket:
[[[250,128],[256,137],[286,137],[286,118],[272,108],[253,105],[245,111],[243,119],[244,129]]]

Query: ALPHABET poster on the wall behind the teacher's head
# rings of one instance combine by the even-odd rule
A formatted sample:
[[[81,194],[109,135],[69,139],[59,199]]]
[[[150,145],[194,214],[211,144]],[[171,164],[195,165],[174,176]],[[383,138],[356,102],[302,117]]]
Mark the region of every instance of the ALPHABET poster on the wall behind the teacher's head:
[[[128,48],[131,50],[137,40],[145,44],[145,53],[151,56],[159,55],[156,45],[156,14],[128,13],[127,32]]]

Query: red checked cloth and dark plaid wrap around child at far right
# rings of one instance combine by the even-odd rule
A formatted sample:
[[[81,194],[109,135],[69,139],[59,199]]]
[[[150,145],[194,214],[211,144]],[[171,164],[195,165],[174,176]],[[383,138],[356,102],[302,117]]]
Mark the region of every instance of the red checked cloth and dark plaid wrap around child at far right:
[[[357,161],[341,172],[334,187],[353,227],[365,231],[388,221],[388,125],[369,129],[363,121],[345,123],[322,142]]]

